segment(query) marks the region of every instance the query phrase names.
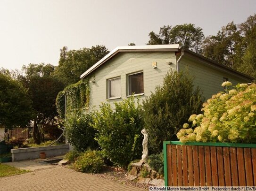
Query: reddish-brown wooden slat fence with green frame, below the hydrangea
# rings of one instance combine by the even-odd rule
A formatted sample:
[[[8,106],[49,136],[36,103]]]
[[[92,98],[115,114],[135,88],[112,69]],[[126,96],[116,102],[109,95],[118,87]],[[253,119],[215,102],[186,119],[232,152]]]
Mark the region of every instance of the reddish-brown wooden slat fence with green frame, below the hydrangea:
[[[164,141],[165,186],[256,186],[256,144]]]

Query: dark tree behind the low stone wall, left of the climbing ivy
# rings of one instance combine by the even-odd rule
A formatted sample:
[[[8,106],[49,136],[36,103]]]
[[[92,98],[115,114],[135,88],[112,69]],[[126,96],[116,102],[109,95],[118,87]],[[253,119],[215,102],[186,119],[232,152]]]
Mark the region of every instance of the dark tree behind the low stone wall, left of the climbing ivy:
[[[28,89],[34,110],[33,139],[36,144],[41,143],[41,129],[44,124],[53,124],[58,115],[55,99],[64,85],[54,76],[55,68],[51,64],[29,64],[23,66],[23,75],[19,80]]]

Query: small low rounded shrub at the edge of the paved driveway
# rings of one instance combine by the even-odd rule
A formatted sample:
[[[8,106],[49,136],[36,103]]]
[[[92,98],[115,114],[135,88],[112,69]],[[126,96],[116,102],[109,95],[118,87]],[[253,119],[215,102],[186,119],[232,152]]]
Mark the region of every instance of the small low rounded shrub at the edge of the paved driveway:
[[[98,173],[104,166],[99,151],[87,150],[77,158],[74,163],[75,170],[79,172]]]

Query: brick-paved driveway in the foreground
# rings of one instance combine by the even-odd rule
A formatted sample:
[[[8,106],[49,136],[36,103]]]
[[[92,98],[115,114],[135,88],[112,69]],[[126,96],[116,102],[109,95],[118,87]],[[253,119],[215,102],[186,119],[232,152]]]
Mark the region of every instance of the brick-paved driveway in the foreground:
[[[60,166],[0,178],[0,191],[145,191]]]

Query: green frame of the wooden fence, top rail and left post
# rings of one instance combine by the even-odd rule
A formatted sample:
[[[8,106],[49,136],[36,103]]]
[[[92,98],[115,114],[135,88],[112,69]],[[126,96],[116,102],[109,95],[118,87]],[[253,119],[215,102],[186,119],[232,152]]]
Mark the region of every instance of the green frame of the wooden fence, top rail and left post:
[[[164,141],[164,175],[165,175],[165,186],[168,186],[166,145],[198,145],[198,146],[222,146],[222,147],[256,148],[256,144],[250,144],[250,143],[202,143],[202,142],[182,143],[180,141]]]

